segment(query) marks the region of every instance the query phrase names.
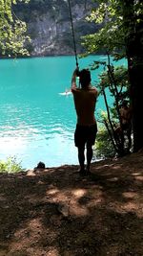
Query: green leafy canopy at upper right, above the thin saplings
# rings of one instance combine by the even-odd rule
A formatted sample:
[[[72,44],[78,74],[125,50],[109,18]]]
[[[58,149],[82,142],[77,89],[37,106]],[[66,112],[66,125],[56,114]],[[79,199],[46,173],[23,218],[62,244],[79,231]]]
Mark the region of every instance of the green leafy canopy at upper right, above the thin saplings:
[[[133,23],[139,24],[143,14],[143,3],[133,1],[133,20],[127,19],[126,24],[123,20],[126,1],[95,1],[98,8],[93,9],[89,22],[102,24],[98,33],[83,36],[82,44],[85,46],[87,54],[95,53],[99,50],[110,53],[115,58],[126,56],[126,44],[129,35],[133,34]],[[128,10],[130,12],[130,9]]]

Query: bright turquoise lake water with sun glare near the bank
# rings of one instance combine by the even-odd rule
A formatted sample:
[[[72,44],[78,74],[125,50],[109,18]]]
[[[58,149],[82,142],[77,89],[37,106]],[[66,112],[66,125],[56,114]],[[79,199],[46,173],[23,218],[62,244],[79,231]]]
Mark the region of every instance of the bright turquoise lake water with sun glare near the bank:
[[[80,69],[99,58],[79,59]],[[74,57],[0,60],[0,159],[14,155],[26,169],[78,163],[72,95],[59,94],[70,88],[74,68]],[[92,83],[100,71],[92,71]]]

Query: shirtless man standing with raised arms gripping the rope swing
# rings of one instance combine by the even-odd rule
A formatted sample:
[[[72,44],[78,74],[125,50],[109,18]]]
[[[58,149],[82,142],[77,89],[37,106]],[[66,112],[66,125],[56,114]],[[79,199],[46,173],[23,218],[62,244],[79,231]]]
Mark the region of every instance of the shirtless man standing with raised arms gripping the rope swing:
[[[77,73],[81,88],[76,85]],[[97,133],[94,117],[97,89],[91,85],[91,73],[87,69],[80,72],[75,69],[72,74],[72,94],[77,115],[77,124],[74,132],[74,143],[78,149],[80,174],[90,173],[92,161],[92,145]],[[85,170],[85,146],[87,147],[87,170]]]

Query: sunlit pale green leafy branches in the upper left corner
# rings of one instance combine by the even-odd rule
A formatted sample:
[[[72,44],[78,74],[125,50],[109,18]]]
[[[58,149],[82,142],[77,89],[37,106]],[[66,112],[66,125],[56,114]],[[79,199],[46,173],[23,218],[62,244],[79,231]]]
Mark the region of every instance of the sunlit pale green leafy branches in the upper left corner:
[[[29,0],[0,0],[0,54],[5,56],[29,55],[26,42],[26,23],[20,20],[12,10],[16,3],[28,3]]]

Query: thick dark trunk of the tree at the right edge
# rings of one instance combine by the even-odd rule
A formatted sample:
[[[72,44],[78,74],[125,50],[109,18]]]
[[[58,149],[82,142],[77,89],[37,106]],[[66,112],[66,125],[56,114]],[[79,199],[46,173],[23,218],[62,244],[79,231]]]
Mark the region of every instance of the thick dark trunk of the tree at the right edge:
[[[124,1],[123,16],[128,35],[125,43],[133,105],[133,151],[138,151],[143,148],[143,19],[136,21],[133,2]]]

